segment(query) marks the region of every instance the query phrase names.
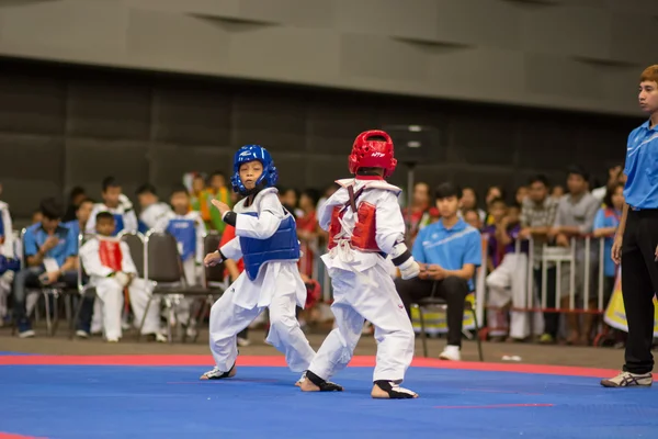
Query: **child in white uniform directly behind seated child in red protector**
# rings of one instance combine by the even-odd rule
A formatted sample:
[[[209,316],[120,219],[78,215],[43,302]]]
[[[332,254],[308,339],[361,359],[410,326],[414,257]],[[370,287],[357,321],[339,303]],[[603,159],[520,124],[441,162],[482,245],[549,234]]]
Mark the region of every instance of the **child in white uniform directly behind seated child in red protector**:
[[[103,202],[93,206],[86,225],[86,233],[95,234],[95,218],[101,212],[110,212],[114,215],[114,224],[116,225],[114,236],[122,230],[137,232],[137,216],[133,210],[133,203],[123,194],[118,181],[114,177],[106,177],[103,179],[102,188]]]

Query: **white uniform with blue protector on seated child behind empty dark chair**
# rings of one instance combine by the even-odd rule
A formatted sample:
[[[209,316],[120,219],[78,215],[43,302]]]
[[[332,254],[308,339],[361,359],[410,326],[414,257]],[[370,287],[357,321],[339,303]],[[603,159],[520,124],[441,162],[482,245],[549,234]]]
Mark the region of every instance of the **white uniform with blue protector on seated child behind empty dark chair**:
[[[158,219],[154,228],[158,232],[167,232],[175,238],[183,263],[185,281],[190,286],[198,285],[203,270],[203,258],[205,256],[203,239],[206,234],[201,214],[192,211],[185,215],[177,215],[173,211],[169,210],[169,212],[166,212]],[[175,303],[175,316],[184,325],[189,324],[190,308],[193,301],[193,297],[183,297]]]

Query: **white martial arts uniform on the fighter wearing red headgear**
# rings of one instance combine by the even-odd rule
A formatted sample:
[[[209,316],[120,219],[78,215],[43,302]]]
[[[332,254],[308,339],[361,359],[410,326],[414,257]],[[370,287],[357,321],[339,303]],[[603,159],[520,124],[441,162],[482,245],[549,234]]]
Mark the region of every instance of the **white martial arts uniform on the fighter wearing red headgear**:
[[[349,204],[348,187],[354,184],[358,211],[363,203],[375,206],[374,238],[382,252],[389,255],[404,243],[405,221],[397,198],[400,190],[383,180],[345,179],[337,181],[341,188],[322,205],[318,213],[320,227],[329,230],[333,207]],[[309,367],[324,380],[348,365],[361,337],[364,319],[375,327],[377,364],[373,381],[400,383],[413,358],[415,335],[393,279],[390,262],[375,251],[361,251],[349,239],[356,223],[352,207],[347,207],[341,221],[341,237],[337,247],[322,256],[333,285],[331,311],[336,326]],[[406,247],[405,247],[406,249]]]

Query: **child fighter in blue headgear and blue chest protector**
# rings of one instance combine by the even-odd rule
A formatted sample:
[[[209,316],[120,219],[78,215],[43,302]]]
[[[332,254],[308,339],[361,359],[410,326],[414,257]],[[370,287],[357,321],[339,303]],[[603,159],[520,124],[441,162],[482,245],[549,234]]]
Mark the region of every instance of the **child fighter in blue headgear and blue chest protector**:
[[[299,241],[295,219],[281,205],[274,187],[276,168],[270,153],[258,145],[241,147],[234,158],[234,191],[243,199],[234,210],[213,200],[222,219],[236,228],[236,238],[206,255],[204,263],[216,266],[225,259],[245,262],[245,271],[211,309],[211,351],[215,368],[202,380],[236,374],[236,336],[269,308],[268,342],[285,353],[293,372],[308,369],[315,352],[295,317],[304,307],[306,286],[299,277]]]

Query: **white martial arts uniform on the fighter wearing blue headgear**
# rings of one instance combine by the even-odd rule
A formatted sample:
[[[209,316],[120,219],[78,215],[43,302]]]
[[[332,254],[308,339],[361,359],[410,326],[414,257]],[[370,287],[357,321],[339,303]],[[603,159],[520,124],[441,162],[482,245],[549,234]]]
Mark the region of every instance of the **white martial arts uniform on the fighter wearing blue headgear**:
[[[279,229],[290,213],[283,210],[276,189],[260,191],[250,206],[247,199],[234,207],[237,215],[236,238],[220,251],[227,259],[242,257],[240,237],[269,239]],[[243,215],[257,213],[258,217]],[[306,285],[299,277],[297,260],[271,260],[261,266],[254,280],[247,270],[226,290],[211,309],[211,351],[217,369],[228,372],[238,356],[236,336],[245,329],[264,308],[270,311],[268,344],[285,353],[293,372],[303,372],[315,356],[295,316],[296,306],[306,303]]]

